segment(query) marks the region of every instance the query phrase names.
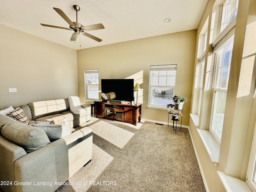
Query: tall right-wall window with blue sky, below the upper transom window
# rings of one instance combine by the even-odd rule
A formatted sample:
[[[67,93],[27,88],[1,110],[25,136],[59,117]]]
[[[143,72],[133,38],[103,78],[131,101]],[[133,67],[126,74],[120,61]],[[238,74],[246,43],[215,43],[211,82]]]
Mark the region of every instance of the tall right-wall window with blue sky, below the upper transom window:
[[[228,79],[232,58],[234,36],[227,40],[214,54],[217,54],[216,78],[213,90],[210,132],[220,143],[228,91]]]

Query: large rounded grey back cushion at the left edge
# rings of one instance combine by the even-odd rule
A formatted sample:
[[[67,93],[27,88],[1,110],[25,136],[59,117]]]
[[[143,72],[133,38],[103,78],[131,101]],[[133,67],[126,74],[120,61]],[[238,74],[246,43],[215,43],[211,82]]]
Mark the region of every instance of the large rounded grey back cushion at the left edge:
[[[27,153],[50,143],[44,130],[21,122],[5,124],[1,133],[6,139],[24,148]]]

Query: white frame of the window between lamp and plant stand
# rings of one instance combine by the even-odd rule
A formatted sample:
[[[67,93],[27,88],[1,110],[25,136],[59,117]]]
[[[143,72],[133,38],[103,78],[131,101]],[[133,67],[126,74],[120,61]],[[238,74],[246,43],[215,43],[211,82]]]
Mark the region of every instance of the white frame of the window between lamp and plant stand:
[[[175,84],[176,84],[176,72],[175,72],[175,79],[174,79],[174,86],[163,86],[163,85],[152,85],[152,75],[151,72],[153,71],[152,69],[162,69],[162,70],[156,70],[156,71],[164,71],[163,69],[168,69],[168,68],[175,68],[175,71],[177,72],[177,64],[168,64],[168,65],[154,65],[150,66],[150,72],[149,72],[149,89],[148,89],[148,108],[157,108],[157,109],[164,109],[167,110],[166,105],[167,104],[153,104],[151,103],[151,90],[154,87],[158,88],[173,88],[173,96],[175,93]],[[166,79],[167,79],[168,74],[166,74]],[[167,89],[166,89],[167,90]],[[170,103],[172,103],[172,99],[170,99]],[[170,104],[168,103],[168,104]]]

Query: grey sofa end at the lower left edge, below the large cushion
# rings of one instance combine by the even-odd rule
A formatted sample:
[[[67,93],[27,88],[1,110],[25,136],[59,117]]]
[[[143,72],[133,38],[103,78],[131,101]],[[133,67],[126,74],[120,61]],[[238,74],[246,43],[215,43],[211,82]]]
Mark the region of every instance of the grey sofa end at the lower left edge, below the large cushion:
[[[0,154],[0,180],[13,183],[15,181],[14,162],[22,156],[26,156],[27,153],[22,147],[0,135]],[[15,186],[1,186],[1,188],[4,191],[14,191],[10,188],[15,188]]]

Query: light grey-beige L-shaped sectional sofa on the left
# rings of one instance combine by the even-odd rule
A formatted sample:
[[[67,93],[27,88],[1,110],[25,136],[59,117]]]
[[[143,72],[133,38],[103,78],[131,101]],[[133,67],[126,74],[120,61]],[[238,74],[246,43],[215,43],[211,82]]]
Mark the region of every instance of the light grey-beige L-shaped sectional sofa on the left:
[[[31,122],[63,116],[70,118],[74,127],[88,120],[84,116],[73,115],[68,110],[67,100],[64,101],[66,109],[57,101],[57,106],[62,106],[63,110],[58,108],[57,113],[53,109],[48,110],[46,116],[35,110],[39,103],[20,108]],[[49,102],[45,103],[42,107],[48,106],[49,109]],[[0,154],[0,180],[4,181],[0,188],[4,192],[54,192],[92,159],[92,130],[84,127],[50,142],[41,128],[0,114]]]

